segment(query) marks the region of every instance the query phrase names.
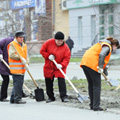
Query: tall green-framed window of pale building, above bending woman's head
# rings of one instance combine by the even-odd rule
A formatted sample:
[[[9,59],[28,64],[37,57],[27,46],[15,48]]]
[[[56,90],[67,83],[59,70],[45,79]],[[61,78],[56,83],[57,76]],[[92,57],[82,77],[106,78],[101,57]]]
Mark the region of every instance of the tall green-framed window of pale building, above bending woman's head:
[[[101,5],[100,6],[100,19],[99,19],[99,33],[100,39],[114,34],[114,5]]]

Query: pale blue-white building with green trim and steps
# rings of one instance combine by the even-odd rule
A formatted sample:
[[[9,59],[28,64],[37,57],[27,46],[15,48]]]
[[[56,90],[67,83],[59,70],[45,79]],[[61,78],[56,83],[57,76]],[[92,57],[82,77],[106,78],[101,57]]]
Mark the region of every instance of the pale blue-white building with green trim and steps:
[[[106,37],[120,40],[120,0],[66,0],[73,52]]]

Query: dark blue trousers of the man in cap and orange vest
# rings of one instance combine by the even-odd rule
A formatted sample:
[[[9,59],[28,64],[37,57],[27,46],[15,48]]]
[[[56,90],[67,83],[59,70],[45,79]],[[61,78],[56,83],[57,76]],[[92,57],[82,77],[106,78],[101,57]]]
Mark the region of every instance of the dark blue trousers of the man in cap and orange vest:
[[[10,101],[18,102],[22,98],[22,87],[24,82],[24,75],[12,74],[13,78],[13,90],[11,94]]]

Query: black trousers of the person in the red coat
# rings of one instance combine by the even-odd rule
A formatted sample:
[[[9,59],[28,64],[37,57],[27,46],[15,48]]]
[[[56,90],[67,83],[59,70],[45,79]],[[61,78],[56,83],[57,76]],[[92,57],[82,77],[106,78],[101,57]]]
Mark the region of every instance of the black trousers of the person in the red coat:
[[[53,82],[54,82],[54,78],[53,79],[45,78],[47,95],[50,99],[55,100]],[[60,78],[60,77],[58,78],[58,86],[59,86],[60,98],[63,99],[64,97],[67,97],[66,83],[64,78]]]

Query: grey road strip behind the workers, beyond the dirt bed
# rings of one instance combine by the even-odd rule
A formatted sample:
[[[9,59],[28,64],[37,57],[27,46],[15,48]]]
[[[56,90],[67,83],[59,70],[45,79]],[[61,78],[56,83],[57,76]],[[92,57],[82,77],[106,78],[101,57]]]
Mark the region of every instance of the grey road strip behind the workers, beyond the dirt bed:
[[[80,63],[70,63],[67,68],[67,76],[71,79],[86,79],[83,70],[80,68]],[[43,63],[30,64],[29,71],[35,80],[44,79],[43,75]],[[120,65],[110,66],[109,70],[109,78],[112,79],[120,79]],[[11,78],[12,79],[12,78]],[[25,73],[25,80],[31,79],[29,74]],[[2,80],[0,76],[0,80]]]

